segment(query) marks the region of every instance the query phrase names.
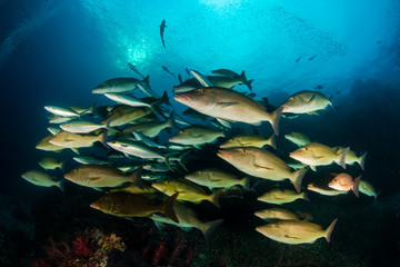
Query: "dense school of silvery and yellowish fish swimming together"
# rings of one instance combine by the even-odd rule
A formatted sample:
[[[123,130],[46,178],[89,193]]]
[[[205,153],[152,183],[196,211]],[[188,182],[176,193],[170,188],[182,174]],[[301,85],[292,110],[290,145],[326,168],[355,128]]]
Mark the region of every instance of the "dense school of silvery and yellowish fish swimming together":
[[[163,21],[161,38],[164,27]],[[266,207],[274,206],[256,211],[254,216],[268,221],[256,230],[286,244],[314,243],[321,237],[329,243],[334,226],[340,224],[340,219],[332,217],[330,226],[323,229],[282,208],[298,199],[310,200],[306,190],[324,196],[352,191],[359,197],[362,192],[377,199],[373,186],[361,179],[366,152],[358,156],[347,144],[340,144],[343,147],[319,144],[302,132],[279,136],[281,118],[316,115],[332,106],[322,92],[296,92],[269,112],[254,95],[250,97],[233,88],[242,85],[247,86],[246,90],[252,90],[252,80],[247,79],[244,71],[238,75],[219,69],[212,70],[212,76],[203,76],[187,70],[187,80],[181,80],[179,75],[180,85],[172,91],[178,105],[188,107],[179,115],[171,106],[168,92],[160,97],[151,89],[149,76],[142,76],[132,65],[129,68],[142,79],[113,78],[92,89],[109,105],[44,107],[51,126],[49,135],[36,148],[48,154],[73,152],[67,151],[70,158],[61,161],[51,155],[40,159],[42,170],[28,170],[22,174],[23,179],[61,190],[64,190],[66,181],[100,190],[103,196],[90,205],[97,210],[128,219],[147,217],[159,227],[170,224],[182,229],[198,228],[206,241],[223,220],[203,221],[192,205],[208,201],[219,209],[221,202],[220,200],[230,188],[256,194],[257,200],[266,202]],[[269,125],[270,130],[260,135],[257,127],[261,123]],[[243,128],[252,129],[252,132],[238,132]],[[166,137],[167,141],[160,142]],[[283,155],[277,146],[277,137],[298,148]],[[187,164],[196,160],[193,155],[203,147],[214,148],[216,154],[210,158],[214,157],[220,164],[228,162],[241,175],[208,166],[197,166],[189,171]],[[67,169],[66,161],[76,167]],[[324,168],[332,164],[340,166],[340,174],[331,174],[326,179],[328,182],[321,182],[321,179],[303,185],[309,169],[317,171],[317,166]],[[359,165],[357,176],[347,172],[347,165],[354,164]],[[59,171],[57,169],[63,171],[62,178],[52,175]],[[254,190],[264,180],[274,181],[279,187]]]

